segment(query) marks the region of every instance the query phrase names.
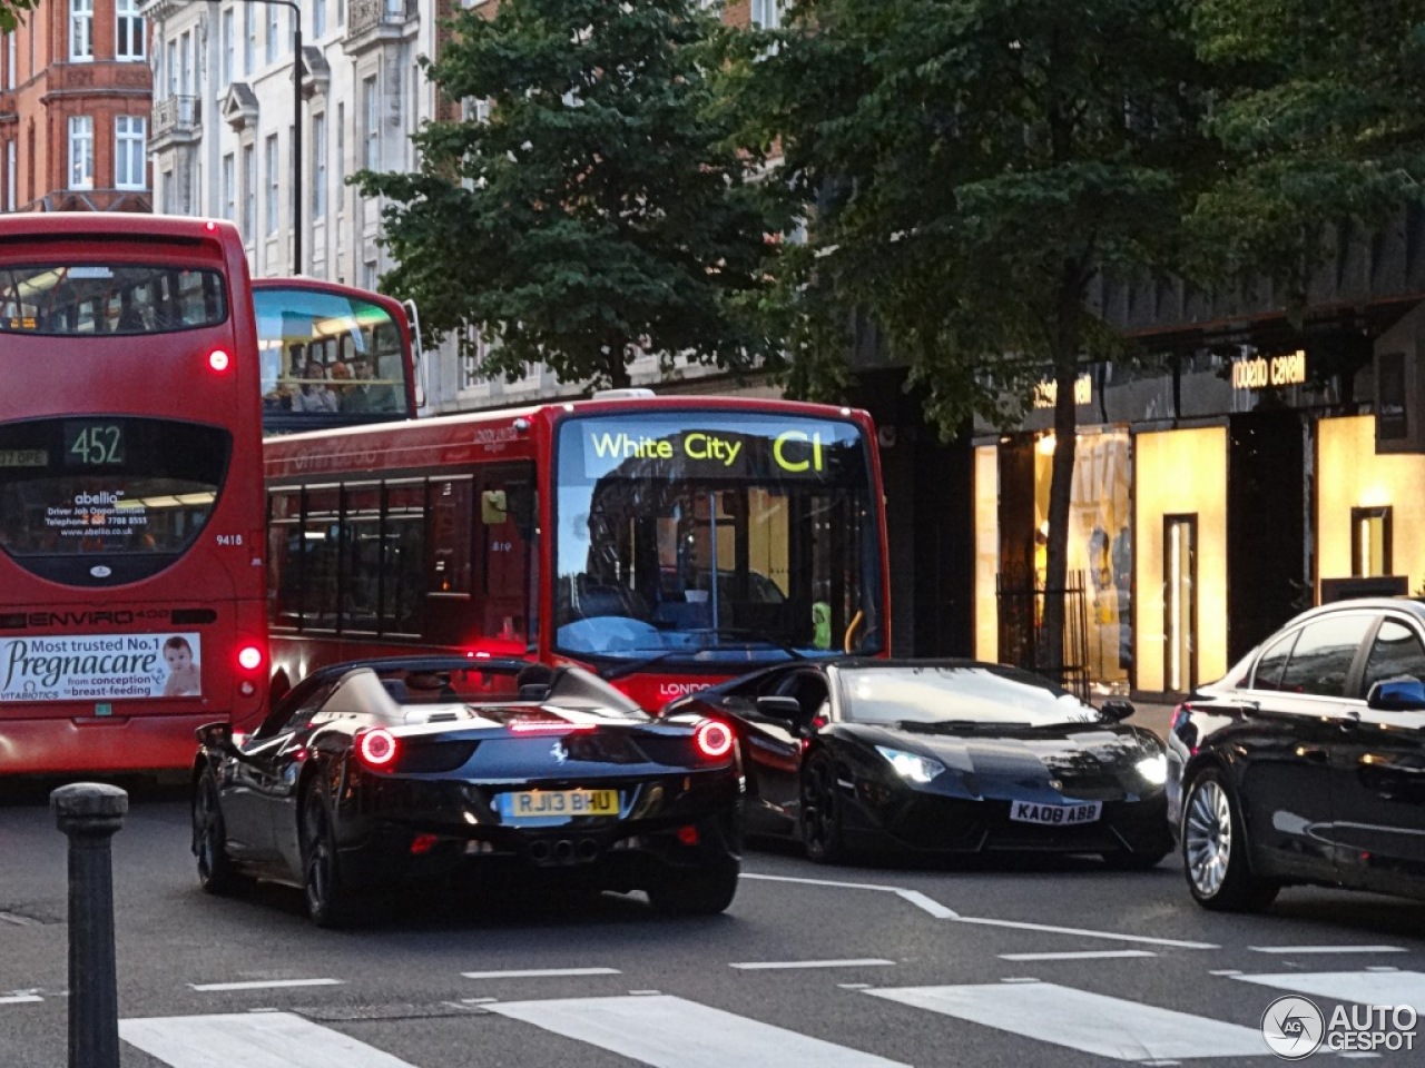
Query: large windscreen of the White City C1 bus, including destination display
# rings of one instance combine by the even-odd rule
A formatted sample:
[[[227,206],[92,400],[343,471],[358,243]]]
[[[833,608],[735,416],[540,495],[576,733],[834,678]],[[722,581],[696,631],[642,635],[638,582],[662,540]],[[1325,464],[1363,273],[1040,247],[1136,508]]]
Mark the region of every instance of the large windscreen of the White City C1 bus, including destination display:
[[[852,422],[566,420],[554,646],[606,671],[881,651],[879,530]]]

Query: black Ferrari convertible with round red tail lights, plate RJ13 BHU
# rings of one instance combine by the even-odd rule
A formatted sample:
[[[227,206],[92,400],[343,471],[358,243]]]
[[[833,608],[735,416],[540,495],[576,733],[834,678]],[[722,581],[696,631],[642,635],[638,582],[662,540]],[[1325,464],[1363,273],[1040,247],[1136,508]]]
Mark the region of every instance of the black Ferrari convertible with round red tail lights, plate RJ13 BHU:
[[[579,668],[452,656],[323,668],[234,738],[198,732],[192,849],[214,893],[301,887],[321,926],[403,883],[737,891],[742,780],[724,723],[656,721]]]

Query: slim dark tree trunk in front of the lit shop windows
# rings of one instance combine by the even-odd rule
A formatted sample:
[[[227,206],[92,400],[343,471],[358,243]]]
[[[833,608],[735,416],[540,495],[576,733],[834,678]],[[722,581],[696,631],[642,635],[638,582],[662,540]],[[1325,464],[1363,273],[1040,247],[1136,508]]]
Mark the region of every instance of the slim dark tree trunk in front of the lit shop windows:
[[[1064,590],[1069,580],[1069,506],[1073,491],[1079,419],[1074,384],[1079,377],[1082,286],[1077,271],[1066,268],[1060,282],[1054,330],[1054,456],[1049,478],[1049,544],[1045,558],[1045,612],[1039,631],[1040,671],[1060,685],[1064,669]]]

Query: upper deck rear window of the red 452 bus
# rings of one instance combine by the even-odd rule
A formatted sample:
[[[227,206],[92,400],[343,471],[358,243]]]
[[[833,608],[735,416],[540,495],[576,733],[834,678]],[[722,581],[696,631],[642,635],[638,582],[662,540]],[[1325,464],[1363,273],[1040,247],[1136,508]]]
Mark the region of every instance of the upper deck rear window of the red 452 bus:
[[[144,335],[217,326],[228,318],[217,271],[141,263],[0,266],[0,330]]]

